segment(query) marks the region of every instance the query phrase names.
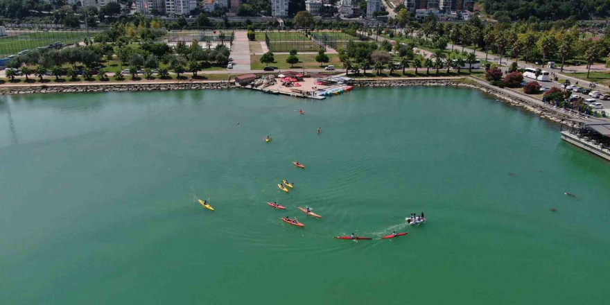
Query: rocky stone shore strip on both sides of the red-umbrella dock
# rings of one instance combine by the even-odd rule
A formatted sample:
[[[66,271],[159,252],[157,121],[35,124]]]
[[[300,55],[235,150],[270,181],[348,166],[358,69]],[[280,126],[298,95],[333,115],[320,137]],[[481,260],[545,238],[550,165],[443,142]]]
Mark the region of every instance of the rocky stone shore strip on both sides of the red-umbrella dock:
[[[428,87],[428,86],[455,86],[470,87],[478,89],[491,96],[499,98],[498,101],[510,105],[523,107],[541,116],[542,118],[557,123],[568,124],[570,119],[583,119],[586,116],[563,110],[543,103],[538,98],[527,96],[509,89],[502,89],[487,84],[482,80],[472,77],[441,77],[441,78],[357,78],[353,80],[354,87]],[[6,94],[41,94],[41,93],[64,93],[64,92],[142,92],[142,91],[164,91],[164,90],[189,90],[189,89],[229,89],[236,88],[233,82],[224,80],[193,80],[177,82],[89,82],[70,84],[19,84],[0,85],[0,95]]]

